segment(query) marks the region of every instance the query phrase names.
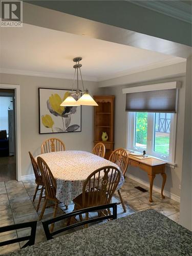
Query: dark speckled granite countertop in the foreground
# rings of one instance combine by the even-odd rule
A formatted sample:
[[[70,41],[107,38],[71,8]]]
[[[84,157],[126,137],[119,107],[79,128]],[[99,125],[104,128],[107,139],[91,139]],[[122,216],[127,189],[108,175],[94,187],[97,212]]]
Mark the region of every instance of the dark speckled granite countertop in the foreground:
[[[6,255],[192,255],[191,232],[150,209]]]

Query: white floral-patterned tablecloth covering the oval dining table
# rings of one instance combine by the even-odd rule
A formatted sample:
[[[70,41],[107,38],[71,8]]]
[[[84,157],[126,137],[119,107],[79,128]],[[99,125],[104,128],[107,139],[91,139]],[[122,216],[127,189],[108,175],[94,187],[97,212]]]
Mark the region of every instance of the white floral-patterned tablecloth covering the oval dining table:
[[[112,165],[119,167],[104,158],[84,151],[60,151],[39,155],[51,169],[57,182],[56,198],[66,205],[82,193],[82,186],[94,170]],[[37,158],[37,157],[36,157]],[[121,175],[118,189],[124,183]]]

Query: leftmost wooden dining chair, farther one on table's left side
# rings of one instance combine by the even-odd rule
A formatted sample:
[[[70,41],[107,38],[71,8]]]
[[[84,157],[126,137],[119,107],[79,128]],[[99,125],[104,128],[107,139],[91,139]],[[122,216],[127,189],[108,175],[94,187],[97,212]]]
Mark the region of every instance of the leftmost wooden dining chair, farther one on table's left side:
[[[29,152],[29,156],[30,156],[30,159],[31,159],[31,164],[33,166],[33,172],[34,172],[34,175],[35,175],[35,183],[36,183],[35,193],[34,193],[34,196],[33,196],[33,202],[35,201],[37,191],[40,190],[39,201],[38,201],[38,204],[37,204],[37,211],[38,211],[40,201],[41,201],[41,198],[42,198],[42,193],[44,192],[44,182],[42,181],[42,176],[41,176],[38,164],[35,161],[34,157],[32,156],[31,152]],[[39,186],[41,186],[41,187],[39,188]]]

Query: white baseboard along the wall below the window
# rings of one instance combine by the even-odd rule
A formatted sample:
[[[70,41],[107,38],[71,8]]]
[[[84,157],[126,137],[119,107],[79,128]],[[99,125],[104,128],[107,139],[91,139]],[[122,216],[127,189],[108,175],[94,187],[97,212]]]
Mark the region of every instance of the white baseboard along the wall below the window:
[[[135,181],[141,183],[142,185],[145,185],[145,186],[148,187],[148,188],[150,187],[150,184],[149,184],[148,182],[146,182],[146,181],[144,181],[144,180],[142,180],[142,179],[140,179],[140,178],[138,178],[138,177],[135,177],[135,176],[132,175],[132,174],[127,174],[127,173],[126,173],[126,177],[128,177],[128,178],[130,178],[130,179],[132,179],[132,180],[135,180]],[[161,193],[161,188],[160,188],[160,187],[153,185],[153,189],[154,189],[155,191]],[[175,200],[175,201],[177,201],[177,202],[180,203],[180,197],[179,197],[179,196],[177,196],[177,195],[175,195],[175,194],[173,194],[173,193],[170,193],[170,192],[167,191],[167,190],[163,190],[163,194],[164,194],[166,197],[169,197],[170,199],[173,199],[173,200]]]

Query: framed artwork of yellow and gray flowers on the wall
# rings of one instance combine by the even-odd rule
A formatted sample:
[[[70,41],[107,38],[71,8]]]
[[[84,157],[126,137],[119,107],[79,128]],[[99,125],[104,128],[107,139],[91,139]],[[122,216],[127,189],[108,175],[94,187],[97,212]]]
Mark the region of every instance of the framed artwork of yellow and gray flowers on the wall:
[[[39,88],[39,133],[81,132],[81,106],[60,106],[70,90]]]

